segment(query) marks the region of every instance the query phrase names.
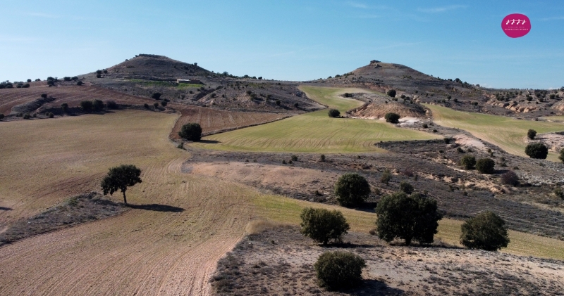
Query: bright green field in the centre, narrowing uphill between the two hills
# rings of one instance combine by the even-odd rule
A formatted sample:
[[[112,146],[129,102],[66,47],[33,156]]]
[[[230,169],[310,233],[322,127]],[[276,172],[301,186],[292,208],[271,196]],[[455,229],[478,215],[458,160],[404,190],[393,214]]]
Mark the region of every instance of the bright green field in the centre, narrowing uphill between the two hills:
[[[360,89],[303,87],[309,98],[336,108],[341,112],[362,105],[362,102],[338,96]],[[203,143],[192,145],[216,150],[306,152],[306,153],[362,153],[382,152],[374,143],[439,139],[421,131],[400,129],[379,120],[329,118],[327,110],[247,127],[236,131],[207,136]]]

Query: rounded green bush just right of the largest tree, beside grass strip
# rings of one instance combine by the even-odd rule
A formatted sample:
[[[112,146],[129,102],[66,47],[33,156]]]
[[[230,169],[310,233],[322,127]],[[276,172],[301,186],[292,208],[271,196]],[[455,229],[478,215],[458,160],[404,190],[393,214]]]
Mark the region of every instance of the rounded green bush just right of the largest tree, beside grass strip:
[[[470,249],[496,251],[507,247],[510,241],[505,221],[489,211],[467,219],[461,230],[460,243]]]

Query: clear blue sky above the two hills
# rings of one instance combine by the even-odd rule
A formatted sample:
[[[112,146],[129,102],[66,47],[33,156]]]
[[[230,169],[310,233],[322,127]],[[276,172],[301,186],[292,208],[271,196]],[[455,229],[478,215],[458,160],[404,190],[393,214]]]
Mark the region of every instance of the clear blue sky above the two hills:
[[[501,30],[510,13],[527,36]],[[306,80],[376,59],[498,88],[564,86],[564,1],[12,1],[0,80],[85,74],[138,53]]]

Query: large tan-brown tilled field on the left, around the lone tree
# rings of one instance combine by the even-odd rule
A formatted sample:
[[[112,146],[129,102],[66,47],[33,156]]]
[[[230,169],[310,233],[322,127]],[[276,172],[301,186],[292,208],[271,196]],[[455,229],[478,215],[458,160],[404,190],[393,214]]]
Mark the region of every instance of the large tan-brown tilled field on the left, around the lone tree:
[[[137,165],[144,181],[128,190],[137,206],[125,214],[1,247],[0,295],[208,294],[215,262],[243,235],[259,193],[182,174],[190,154],[167,139],[176,119],[125,110],[3,122],[0,136],[11,141],[0,144],[2,226],[97,189],[114,165]]]

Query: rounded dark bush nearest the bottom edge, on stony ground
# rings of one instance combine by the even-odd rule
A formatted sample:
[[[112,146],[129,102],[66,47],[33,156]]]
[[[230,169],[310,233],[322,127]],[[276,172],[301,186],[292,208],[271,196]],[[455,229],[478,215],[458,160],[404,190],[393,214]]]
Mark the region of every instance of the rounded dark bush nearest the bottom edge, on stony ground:
[[[327,290],[353,288],[362,283],[366,262],[351,252],[324,252],[314,264],[319,286]]]

